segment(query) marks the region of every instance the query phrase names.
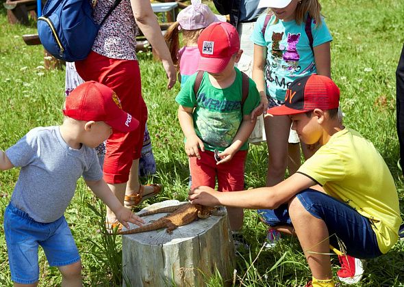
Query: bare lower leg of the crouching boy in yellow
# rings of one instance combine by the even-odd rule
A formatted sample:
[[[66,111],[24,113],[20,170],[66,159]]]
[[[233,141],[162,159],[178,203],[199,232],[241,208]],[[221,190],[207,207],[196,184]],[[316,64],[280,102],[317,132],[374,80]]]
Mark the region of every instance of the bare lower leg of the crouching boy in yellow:
[[[289,215],[313,277],[331,279],[331,261],[326,255],[329,254],[329,234],[325,222],[311,215],[297,197],[290,201]]]

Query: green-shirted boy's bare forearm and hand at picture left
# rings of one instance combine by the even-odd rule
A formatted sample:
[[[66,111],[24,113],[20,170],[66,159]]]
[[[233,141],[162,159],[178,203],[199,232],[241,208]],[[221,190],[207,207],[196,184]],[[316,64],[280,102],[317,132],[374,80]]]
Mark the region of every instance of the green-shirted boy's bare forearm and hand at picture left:
[[[199,139],[194,130],[194,120],[192,120],[193,107],[179,106],[178,108],[178,120],[181,126],[182,132],[186,137],[185,151],[188,156],[197,156],[201,159],[199,155],[199,148],[201,151],[205,151],[205,146],[203,141]]]

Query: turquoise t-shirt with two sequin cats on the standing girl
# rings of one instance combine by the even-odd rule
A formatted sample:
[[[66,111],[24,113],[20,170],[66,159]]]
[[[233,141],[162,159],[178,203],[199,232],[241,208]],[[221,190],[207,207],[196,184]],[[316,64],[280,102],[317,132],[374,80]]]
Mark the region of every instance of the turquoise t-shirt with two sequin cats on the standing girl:
[[[255,23],[251,40],[254,44],[267,47],[265,79],[266,94],[284,101],[286,90],[295,79],[317,72],[314,54],[305,32],[305,21],[297,25],[295,20],[283,22],[272,16],[262,35],[266,14],[262,14]],[[331,34],[321,18],[316,26],[312,20],[313,46],[332,41]]]

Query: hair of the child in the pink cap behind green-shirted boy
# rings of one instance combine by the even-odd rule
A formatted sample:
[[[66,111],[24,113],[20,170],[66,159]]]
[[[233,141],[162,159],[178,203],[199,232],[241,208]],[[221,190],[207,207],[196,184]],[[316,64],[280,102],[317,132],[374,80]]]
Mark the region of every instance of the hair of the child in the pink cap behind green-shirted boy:
[[[184,43],[193,44],[198,42],[199,31],[202,30],[179,30],[178,27],[179,23],[174,22],[170,27],[168,27],[166,34],[164,35],[164,40],[166,40],[166,44],[168,46],[168,50],[170,50],[171,59],[173,59],[174,65],[179,64],[177,58],[177,53],[179,50],[179,32],[182,31],[182,40]]]

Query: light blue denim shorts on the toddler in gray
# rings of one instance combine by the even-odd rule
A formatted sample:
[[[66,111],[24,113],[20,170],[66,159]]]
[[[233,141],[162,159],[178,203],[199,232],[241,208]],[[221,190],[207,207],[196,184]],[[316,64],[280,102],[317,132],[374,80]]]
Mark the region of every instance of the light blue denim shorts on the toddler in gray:
[[[51,266],[65,266],[80,260],[64,216],[51,223],[39,223],[23,210],[9,204],[5,208],[4,232],[13,282],[38,282],[38,245],[44,249]]]

